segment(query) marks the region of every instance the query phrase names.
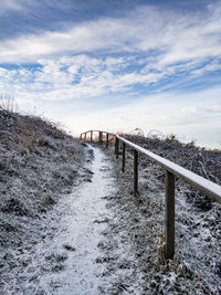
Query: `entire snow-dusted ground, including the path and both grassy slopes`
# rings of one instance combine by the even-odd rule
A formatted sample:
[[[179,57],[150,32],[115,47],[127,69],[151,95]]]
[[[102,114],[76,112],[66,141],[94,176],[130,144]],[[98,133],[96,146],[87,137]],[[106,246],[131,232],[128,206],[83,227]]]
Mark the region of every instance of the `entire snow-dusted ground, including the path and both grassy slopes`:
[[[123,135],[221,183],[221,151]],[[80,143],[51,122],[0,108],[0,294],[220,294],[221,207],[181,181],[176,256],[165,261],[165,175]]]

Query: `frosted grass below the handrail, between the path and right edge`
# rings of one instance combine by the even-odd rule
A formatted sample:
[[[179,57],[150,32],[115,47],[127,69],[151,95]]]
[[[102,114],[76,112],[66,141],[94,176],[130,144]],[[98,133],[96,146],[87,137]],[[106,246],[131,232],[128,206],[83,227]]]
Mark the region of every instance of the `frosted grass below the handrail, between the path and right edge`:
[[[177,183],[176,255],[165,261],[165,172],[140,158],[139,196],[134,197],[133,155],[129,150],[126,155],[125,173],[120,171],[120,157],[116,162],[119,198],[114,207],[135,247],[143,286],[135,294],[221,294],[221,206],[197,207],[192,201],[199,199],[197,193]],[[191,197],[187,198],[187,192]]]

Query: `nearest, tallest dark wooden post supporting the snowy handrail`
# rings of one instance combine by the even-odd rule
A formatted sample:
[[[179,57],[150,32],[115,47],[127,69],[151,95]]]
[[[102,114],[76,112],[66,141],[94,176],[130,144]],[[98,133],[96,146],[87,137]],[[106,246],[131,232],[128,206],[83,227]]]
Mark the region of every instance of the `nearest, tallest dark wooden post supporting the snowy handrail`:
[[[175,176],[166,170],[166,259],[175,255]]]

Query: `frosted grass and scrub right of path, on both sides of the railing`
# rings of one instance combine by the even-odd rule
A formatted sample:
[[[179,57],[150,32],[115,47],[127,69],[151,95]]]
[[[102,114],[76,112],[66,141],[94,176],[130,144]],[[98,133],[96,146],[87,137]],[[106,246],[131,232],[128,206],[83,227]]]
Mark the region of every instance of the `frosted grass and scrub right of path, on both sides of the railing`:
[[[125,138],[221,183],[221,152],[208,151],[175,139],[143,136]],[[133,154],[127,149],[126,172],[119,173],[120,206],[129,214],[125,228],[134,241],[147,294],[219,294],[221,291],[221,207],[181,181],[176,190],[176,257],[164,262],[165,172],[139,158],[139,197],[131,192]],[[136,219],[137,222],[133,222]],[[136,233],[136,234],[134,234]]]

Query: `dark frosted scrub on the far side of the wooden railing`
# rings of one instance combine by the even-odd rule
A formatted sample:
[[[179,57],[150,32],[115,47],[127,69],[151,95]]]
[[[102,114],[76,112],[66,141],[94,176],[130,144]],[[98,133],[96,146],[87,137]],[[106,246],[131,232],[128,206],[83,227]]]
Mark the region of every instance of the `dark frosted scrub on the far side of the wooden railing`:
[[[168,137],[162,140],[159,138],[135,135],[123,136],[125,136],[128,140],[136,143],[137,145],[221,186],[220,150],[206,150],[204,148],[196,147],[194,143],[182,144],[178,141],[176,137]],[[144,166],[147,160],[145,157],[141,157],[141,165]],[[164,171],[159,171],[158,178],[164,180]],[[210,200],[190,187],[187,190],[187,197],[190,202],[196,202],[199,208],[203,210],[211,209]]]

